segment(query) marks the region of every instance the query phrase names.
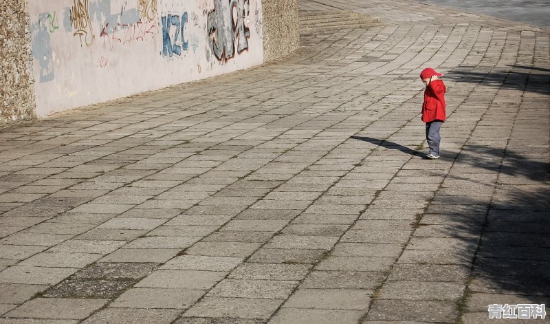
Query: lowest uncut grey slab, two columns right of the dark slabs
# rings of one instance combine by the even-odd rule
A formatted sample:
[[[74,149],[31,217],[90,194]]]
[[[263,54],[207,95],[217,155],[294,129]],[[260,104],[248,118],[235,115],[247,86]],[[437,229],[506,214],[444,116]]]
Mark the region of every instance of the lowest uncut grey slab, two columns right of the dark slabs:
[[[193,305],[184,317],[234,317],[267,319],[283,303],[281,299],[206,297]]]

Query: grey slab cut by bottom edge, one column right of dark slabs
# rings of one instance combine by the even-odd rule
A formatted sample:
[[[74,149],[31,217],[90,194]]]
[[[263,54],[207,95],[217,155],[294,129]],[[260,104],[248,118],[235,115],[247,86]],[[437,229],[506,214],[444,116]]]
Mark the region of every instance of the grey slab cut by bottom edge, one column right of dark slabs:
[[[96,312],[82,323],[86,324],[132,324],[158,323],[169,324],[177,318],[181,310],[155,310],[139,308],[106,308]]]

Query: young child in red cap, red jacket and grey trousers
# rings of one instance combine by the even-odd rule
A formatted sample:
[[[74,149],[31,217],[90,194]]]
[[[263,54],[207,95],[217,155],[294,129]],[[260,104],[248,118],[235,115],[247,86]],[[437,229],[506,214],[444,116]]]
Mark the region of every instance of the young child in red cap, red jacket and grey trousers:
[[[426,155],[428,159],[439,159],[439,143],[441,136],[439,129],[445,121],[445,91],[447,88],[443,80],[439,79],[443,74],[435,72],[431,67],[423,69],[420,78],[426,90],[424,90],[424,102],[422,104],[422,121],[426,122],[426,140],[430,151]]]

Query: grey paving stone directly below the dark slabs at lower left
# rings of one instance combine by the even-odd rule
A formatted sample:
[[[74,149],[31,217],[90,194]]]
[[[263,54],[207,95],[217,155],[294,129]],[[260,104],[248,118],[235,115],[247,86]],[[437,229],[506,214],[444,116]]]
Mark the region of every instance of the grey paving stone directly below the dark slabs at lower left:
[[[37,298],[6,316],[19,318],[84,319],[103,307],[106,299]]]

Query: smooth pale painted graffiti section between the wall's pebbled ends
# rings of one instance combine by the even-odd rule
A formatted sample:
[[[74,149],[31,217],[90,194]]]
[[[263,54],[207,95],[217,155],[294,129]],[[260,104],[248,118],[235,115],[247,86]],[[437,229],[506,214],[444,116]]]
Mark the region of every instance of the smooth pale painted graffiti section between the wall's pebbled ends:
[[[263,63],[261,0],[28,0],[36,114]]]

